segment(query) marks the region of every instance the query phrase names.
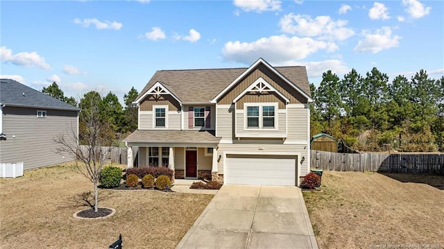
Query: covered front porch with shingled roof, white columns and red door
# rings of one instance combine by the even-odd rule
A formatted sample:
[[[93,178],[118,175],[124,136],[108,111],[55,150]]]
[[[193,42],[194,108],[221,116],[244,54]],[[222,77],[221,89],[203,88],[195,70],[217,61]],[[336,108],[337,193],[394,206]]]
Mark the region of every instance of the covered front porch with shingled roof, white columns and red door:
[[[128,148],[127,168],[168,166],[176,179],[217,180],[220,138],[211,131],[136,130],[124,141]],[[137,148],[137,149],[136,149]]]

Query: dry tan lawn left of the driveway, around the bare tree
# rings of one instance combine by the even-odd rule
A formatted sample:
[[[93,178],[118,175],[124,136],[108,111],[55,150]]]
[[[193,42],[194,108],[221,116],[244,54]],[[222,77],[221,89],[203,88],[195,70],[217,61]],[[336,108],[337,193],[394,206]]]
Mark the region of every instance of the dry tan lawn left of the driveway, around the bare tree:
[[[116,214],[80,220],[76,200],[93,184],[65,164],[0,179],[0,248],[175,248],[212,195],[99,189],[99,207]]]

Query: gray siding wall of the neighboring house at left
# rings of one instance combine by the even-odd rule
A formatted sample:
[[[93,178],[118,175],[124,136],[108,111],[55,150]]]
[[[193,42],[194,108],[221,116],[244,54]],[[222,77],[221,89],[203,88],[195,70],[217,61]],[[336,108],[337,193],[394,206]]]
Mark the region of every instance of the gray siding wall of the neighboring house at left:
[[[37,110],[46,111],[38,118]],[[69,162],[56,152],[59,144],[53,141],[58,135],[77,134],[77,111],[44,108],[3,108],[3,133],[7,139],[0,141],[0,162],[24,162],[24,169]]]

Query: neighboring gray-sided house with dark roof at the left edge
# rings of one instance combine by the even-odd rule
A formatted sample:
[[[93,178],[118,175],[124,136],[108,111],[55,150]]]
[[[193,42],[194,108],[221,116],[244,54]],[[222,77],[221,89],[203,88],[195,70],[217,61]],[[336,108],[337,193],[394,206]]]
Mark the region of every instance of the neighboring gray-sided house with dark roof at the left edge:
[[[0,79],[0,163],[24,162],[24,169],[70,159],[56,153],[53,138],[78,135],[79,109],[15,80]]]

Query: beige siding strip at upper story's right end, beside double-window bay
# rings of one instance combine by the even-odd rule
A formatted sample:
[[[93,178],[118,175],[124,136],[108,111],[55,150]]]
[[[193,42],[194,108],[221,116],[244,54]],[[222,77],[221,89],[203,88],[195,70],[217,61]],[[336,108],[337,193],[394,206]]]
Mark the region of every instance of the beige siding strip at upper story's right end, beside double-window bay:
[[[287,141],[307,141],[307,109],[288,108],[288,137]]]

